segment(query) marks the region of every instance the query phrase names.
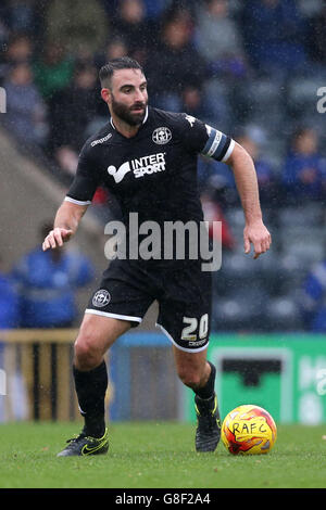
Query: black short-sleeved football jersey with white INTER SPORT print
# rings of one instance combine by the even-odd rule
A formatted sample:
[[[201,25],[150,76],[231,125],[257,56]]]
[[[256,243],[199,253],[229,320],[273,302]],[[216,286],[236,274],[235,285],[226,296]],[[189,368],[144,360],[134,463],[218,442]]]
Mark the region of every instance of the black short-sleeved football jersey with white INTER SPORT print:
[[[203,220],[197,186],[199,154],[226,161],[235,145],[223,132],[186,113],[149,107],[137,135],[126,138],[112,119],[90,137],[65,200],[91,204],[99,186],[117,200],[125,222]]]

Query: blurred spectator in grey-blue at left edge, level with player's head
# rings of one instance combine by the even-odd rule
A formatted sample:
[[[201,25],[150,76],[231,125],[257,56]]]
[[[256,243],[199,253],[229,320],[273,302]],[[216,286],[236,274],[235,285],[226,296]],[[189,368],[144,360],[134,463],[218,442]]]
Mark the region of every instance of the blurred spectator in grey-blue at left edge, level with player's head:
[[[4,81],[7,114],[4,123],[23,144],[43,144],[47,136],[46,105],[33,82],[28,64],[16,64]]]

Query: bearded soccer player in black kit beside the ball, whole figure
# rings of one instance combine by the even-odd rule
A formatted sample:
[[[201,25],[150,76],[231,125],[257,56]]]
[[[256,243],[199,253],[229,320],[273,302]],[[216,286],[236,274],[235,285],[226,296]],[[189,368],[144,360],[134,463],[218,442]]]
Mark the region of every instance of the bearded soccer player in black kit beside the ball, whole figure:
[[[173,78],[172,78],[173,79]],[[115,59],[100,71],[101,97],[110,120],[88,139],[74,181],[42,248],[55,248],[76,233],[97,188],[108,187],[127,222],[203,220],[197,190],[197,157],[204,154],[233,168],[244,213],[244,252],[266,252],[271,234],[262,220],[252,158],[231,138],[183,113],[148,106],[147,81],[133,59]],[[127,238],[133,232],[127,231]],[[206,359],[211,324],[211,272],[197,259],[116,257],[91,296],[74,346],[73,374],[82,433],[59,456],[104,454],[108,372],[103,355],[122,334],[138,326],[153,301],[158,324],[173,344],[176,371],[195,392],[197,451],[214,451],[221,436],[215,367]]]

